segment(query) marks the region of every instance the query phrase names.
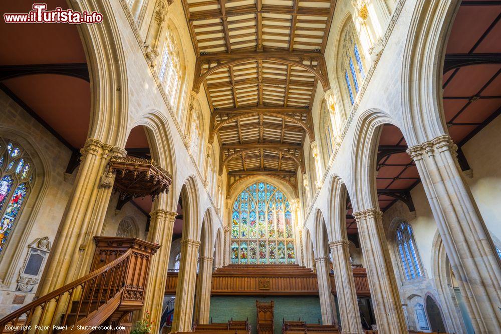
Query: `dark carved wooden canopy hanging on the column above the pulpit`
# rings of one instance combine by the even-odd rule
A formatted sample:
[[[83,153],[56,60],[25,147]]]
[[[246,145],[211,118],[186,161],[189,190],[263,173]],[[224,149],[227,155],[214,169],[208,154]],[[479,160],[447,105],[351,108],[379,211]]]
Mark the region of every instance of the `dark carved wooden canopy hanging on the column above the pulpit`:
[[[169,192],[172,184],[172,175],[148,159],[113,157],[109,172],[115,175],[114,188],[120,193],[117,209],[137,197],[150,195],[155,200],[159,194]]]

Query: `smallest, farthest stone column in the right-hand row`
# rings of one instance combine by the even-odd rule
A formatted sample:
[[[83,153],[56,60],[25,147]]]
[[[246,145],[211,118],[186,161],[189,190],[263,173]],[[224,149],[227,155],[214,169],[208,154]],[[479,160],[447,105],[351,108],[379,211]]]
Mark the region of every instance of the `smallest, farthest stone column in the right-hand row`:
[[[317,265],[318,293],[320,297],[322,323],[336,324],[336,303],[331,291],[329,258],[326,256],[316,257],[315,263]]]

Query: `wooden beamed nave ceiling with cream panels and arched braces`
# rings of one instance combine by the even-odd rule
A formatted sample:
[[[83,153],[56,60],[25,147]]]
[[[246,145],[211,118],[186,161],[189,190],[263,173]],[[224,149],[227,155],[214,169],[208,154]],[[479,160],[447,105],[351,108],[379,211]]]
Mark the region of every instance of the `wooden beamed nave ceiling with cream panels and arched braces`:
[[[193,90],[205,89],[209,142],[222,145],[219,173],[304,173],[316,87],[330,88],[323,53],[335,0],[182,3],[198,55]]]

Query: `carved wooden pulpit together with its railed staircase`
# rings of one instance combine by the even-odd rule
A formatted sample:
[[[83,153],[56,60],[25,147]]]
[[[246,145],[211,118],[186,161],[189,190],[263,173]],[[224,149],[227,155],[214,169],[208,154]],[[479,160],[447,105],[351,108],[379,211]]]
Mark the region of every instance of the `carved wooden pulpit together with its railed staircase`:
[[[143,306],[151,256],[160,246],[136,238],[94,240],[91,272],[0,319],[0,334],[128,332],[117,326]]]

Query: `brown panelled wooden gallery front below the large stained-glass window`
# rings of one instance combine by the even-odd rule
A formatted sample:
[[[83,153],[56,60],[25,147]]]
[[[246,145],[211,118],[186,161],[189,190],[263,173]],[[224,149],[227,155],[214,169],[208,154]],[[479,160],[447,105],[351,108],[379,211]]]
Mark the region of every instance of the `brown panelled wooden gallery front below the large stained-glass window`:
[[[370,296],[365,268],[353,268],[359,297]],[[166,294],[175,294],[177,273],[169,272]],[[332,293],[336,294],[331,274]],[[315,295],[317,274],[299,265],[229,265],[212,273],[212,295]]]

